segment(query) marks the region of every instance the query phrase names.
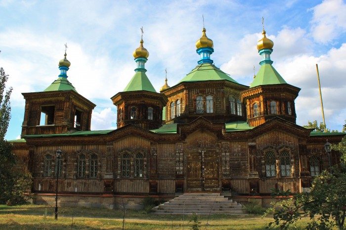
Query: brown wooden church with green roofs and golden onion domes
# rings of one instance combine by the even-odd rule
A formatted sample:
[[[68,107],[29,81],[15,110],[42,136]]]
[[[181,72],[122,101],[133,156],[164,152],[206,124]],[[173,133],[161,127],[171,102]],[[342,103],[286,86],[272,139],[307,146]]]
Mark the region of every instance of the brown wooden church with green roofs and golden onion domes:
[[[264,200],[272,188],[308,191],[314,176],[339,162],[336,151],[329,162],[327,139],[339,143],[345,134],[296,124],[300,88],[274,69],[273,42],[262,35],[260,69],[250,86],[213,64],[213,41],[203,28],[198,65],[172,87],[166,77],[160,92],[146,75],[149,52],[141,39],[134,76],[111,97],[115,130],[90,130],[95,104],[67,79],[65,52],[51,85],[23,93],[22,139],[12,141],[17,170],[33,175],[33,201],[53,202],[56,186],[60,205],[108,208],[121,202],[138,208],[148,195],[220,192]]]

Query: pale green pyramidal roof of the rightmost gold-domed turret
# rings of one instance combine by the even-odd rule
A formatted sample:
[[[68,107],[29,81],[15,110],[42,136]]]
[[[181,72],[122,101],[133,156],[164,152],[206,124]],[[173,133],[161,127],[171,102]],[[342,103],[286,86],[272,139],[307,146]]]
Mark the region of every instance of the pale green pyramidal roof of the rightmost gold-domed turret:
[[[287,84],[287,82],[280,76],[280,74],[270,64],[261,65],[254,81],[250,84],[250,88],[259,85],[272,85],[272,84]]]

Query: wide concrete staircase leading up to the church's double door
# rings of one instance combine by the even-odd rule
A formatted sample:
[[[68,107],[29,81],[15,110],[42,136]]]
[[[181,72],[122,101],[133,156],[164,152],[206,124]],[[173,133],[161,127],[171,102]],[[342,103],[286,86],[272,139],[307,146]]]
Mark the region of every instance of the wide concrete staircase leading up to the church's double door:
[[[153,208],[154,215],[244,214],[241,204],[219,193],[185,193]]]

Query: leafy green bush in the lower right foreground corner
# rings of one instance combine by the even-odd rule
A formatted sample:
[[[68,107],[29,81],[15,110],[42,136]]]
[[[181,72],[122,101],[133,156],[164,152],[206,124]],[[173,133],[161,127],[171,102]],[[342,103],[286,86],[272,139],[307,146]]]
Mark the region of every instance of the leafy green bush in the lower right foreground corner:
[[[290,191],[277,192],[288,197]],[[290,229],[303,217],[309,217],[308,230],[345,229],[346,217],[346,165],[333,167],[332,173],[323,171],[312,182],[310,192],[294,194],[293,198],[273,203],[263,216],[273,213],[274,222],[267,228]]]

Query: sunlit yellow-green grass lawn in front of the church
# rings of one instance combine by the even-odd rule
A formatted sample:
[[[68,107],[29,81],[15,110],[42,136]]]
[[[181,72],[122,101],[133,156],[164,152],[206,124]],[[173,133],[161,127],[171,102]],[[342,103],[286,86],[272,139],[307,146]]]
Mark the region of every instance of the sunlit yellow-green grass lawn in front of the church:
[[[44,215],[46,213],[46,216]],[[45,216],[45,217],[44,217]],[[72,224],[72,216],[73,224]],[[96,230],[122,229],[123,212],[84,207],[59,207],[58,220],[54,220],[54,207],[47,205],[0,205],[0,229],[13,230]],[[188,230],[191,216],[155,216],[143,211],[127,210],[126,230]],[[211,215],[199,217],[202,230],[262,230],[272,218],[260,215]],[[308,220],[300,222],[301,229]]]

